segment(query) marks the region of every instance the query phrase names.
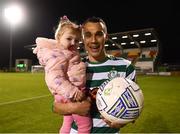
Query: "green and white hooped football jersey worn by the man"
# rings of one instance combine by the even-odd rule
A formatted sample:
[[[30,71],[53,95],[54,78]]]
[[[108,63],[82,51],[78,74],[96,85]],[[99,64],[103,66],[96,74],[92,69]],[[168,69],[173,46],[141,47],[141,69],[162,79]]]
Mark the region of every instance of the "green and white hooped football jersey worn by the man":
[[[89,90],[99,87],[103,82],[114,77],[126,77],[135,81],[135,69],[130,61],[123,58],[116,58],[113,56],[107,57],[103,62],[92,63],[88,60],[87,64],[87,83],[86,87]],[[92,133],[118,133],[119,129],[108,127],[108,125],[100,118],[100,113],[96,108],[96,104],[91,111],[91,117],[93,120]],[[72,133],[77,132],[75,123],[71,129]]]

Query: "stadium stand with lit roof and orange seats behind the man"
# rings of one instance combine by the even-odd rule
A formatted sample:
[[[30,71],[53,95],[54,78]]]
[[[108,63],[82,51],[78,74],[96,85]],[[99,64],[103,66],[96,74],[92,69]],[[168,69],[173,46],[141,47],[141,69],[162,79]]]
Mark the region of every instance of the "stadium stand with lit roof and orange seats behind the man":
[[[132,61],[139,73],[154,72],[159,55],[159,39],[154,28],[132,30],[109,34],[105,44],[108,54],[124,57]],[[33,50],[36,44],[25,46]],[[79,51],[86,56],[83,43],[80,42]]]

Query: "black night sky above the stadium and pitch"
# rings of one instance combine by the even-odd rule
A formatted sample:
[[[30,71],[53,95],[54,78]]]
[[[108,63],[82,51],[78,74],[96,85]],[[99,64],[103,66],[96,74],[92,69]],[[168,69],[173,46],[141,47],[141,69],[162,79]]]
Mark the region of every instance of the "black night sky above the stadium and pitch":
[[[36,56],[24,46],[32,45],[38,36],[53,38],[59,18],[82,23],[88,17],[104,19],[108,33],[154,28],[160,40],[162,63],[180,64],[180,7],[173,0],[0,0],[0,68],[9,66],[10,27],[3,10],[8,3],[24,9],[24,22],[13,33],[13,61]]]

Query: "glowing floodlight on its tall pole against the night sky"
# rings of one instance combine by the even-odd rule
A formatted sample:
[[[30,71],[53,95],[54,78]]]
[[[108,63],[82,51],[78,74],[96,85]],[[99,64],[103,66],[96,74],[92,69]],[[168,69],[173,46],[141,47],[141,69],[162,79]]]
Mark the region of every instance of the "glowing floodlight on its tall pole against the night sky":
[[[9,70],[12,71],[12,48],[13,48],[13,28],[23,19],[23,12],[20,6],[10,5],[4,9],[4,16],[10,26],[10,51],[9,51]]]

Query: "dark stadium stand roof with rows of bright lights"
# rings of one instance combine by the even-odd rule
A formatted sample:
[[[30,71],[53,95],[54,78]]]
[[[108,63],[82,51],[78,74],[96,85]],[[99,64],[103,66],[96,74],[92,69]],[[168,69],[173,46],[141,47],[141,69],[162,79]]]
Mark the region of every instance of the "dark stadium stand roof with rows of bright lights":
[[[154,28],[109,34],[106,49],[158,47],[159,39]]]

